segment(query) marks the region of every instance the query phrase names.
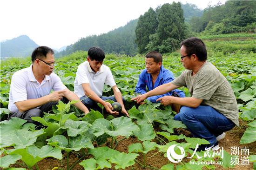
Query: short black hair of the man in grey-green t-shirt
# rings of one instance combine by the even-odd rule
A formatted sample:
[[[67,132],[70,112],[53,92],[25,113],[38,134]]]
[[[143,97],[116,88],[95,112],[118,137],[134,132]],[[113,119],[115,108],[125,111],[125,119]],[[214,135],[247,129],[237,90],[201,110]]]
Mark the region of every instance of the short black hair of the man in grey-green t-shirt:
[[[200,61],[207,60],[207,50],[202,39],[198,39],[196,37],[190,37],[182,41],[181,47],[182,46],[186,47],[186,53],[188,55],[195,54]]]

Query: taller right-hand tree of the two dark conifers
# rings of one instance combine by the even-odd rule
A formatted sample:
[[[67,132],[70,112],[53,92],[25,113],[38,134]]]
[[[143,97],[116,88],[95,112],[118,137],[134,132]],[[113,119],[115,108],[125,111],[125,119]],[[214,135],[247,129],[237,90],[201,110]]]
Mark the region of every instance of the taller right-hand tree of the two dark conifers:
[[[150,36],[147,50],[172,52],[186,38],[185,23],[181,4],[173,2],[164,4],[157,14],[158,26],[156,33]]]

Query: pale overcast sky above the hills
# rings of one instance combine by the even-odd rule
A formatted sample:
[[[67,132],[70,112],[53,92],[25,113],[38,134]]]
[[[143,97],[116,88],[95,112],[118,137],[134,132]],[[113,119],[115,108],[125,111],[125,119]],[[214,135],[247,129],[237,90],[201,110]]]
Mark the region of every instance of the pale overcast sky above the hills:
[[[40,46],[59,49],[173,1],[204,9],[226,0],[0,0],[0,41],[27,35]]]

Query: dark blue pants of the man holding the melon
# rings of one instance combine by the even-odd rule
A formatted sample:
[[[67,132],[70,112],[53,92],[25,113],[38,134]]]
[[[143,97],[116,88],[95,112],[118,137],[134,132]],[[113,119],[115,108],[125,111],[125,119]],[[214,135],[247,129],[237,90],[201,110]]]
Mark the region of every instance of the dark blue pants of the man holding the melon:
[[[116,99],[114,96],[101,96],[100,97],[102,100],[106,101],[106,100],[113,100],[114,102],[116,102]],[[125,102],[124,98],[123,99],[123,103]],[[97,105],[97,102],[95,102],[94,100],[88,98],[87,96],[83,96],[80,98],[81,102],[88,108],[88,109],[93,109],[93,110],[97,110],[97,111],[101,111],[101,108]]]

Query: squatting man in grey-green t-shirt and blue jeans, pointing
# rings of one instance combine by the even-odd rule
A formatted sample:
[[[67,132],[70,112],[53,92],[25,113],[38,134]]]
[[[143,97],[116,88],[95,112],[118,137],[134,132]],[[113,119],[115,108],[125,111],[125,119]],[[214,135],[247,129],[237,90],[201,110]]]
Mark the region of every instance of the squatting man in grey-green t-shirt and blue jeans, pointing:
[[[182,121],[194,137],[209,141],[208,145],[201,145],[197,150],[208,147],[216,150],[219,147],[217,141],[225,137],[224,131],[239,126],[236,97],[227,79],[207,61],[206,47],[201,39],[192,37],[182,41],[181,62],[187,70],[178,78],[132,100],[140,103],[150,96],[187,87],[191,97],[165,96],[158,101],[162,105],[182,105],[174,119]]]

